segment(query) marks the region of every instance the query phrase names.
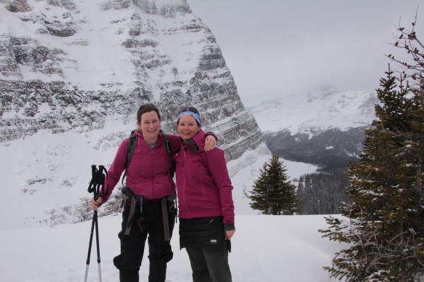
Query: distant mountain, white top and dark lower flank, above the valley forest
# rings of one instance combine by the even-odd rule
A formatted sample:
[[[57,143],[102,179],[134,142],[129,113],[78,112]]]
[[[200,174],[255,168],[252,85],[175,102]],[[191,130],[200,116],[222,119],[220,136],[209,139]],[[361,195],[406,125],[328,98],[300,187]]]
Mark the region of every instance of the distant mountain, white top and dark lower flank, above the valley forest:
[[[364,129],[375,119],[377,103],[375,92],[340,92],[325,86],[249,109],[271,152],[283,159],[338,170],[358,157]]]

